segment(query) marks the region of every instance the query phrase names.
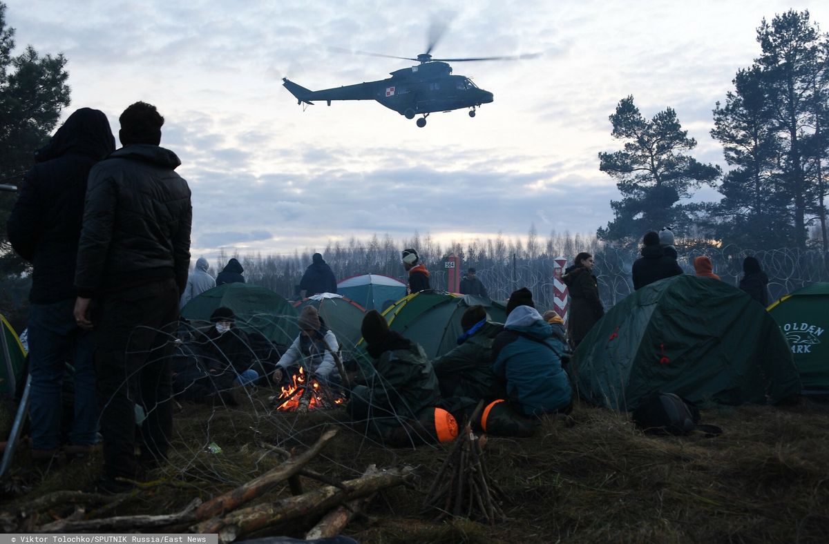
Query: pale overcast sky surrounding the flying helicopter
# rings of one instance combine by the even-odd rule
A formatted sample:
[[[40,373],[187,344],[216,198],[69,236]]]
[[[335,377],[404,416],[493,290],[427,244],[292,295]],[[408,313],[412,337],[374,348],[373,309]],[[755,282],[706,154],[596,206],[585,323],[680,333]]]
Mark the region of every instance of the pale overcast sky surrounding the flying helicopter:
[[[759,55],[763,17],[829,2],[55,2],[2,0],[17,50],[63,52],[75,108],[99,108],[117,134],[137,100],[166,123],[193,202],[194,255],[219,248],[290,253],[376,233],[441,241],[593,233],[618,191],[599,171],[619,147],[608,115],[633,94],[647,117],[671,106],[694,155],[724,165],[711,109]],[[384,79],[414,63],[329,47],[415,56],[429,23],[450,20],[444,57],[534,60],[453,64],[495,95],[469,118],[434,113],[425,128],[376,102],[306,111],[281,86]],[[713,190],[698,198],[713,200]]]

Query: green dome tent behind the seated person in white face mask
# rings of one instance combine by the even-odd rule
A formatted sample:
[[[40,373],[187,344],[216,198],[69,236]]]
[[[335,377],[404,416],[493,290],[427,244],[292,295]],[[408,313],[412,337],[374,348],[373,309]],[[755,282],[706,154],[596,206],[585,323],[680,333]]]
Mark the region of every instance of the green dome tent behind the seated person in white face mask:
[[[233,311],[240,330],[259,333],[274,344],[290,344],[299,334],[296,308],[274,291],[248,283],[225,283],[194,296],[182,308],[182,317],[210,321],[220,306]]]

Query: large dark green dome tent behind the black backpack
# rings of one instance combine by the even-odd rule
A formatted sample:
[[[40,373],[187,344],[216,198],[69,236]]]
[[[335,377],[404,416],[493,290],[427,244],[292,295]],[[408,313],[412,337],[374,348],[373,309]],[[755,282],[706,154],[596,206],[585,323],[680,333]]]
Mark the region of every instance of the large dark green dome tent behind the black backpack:
[[[800,392],[777,324],[749,295],[690,275],[627,296],[594,325],[570,364],[580,397],[628,411],[652,392],[691,402],[778,402]]]

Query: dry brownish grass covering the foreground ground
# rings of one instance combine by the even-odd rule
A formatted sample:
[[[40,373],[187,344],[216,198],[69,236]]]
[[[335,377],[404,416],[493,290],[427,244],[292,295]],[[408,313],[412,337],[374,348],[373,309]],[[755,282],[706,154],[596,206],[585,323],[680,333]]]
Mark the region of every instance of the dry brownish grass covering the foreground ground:
[[[715,438],[645,436],[623,414],[577,406],[569,417],[546,419],[534,438],[490,438],[487,463],[510,498],[504,509],[511,519],[487,527],[467,519],[436,524],[434,513],[420,511],[448,446],[386,449],[350,431],[342,412],[273,414],[265,395],[244,409],[187,407],[177,414],[170,461],[149,474],[157,481],[109,515],[169,513],[196,496],[208,498],[279,464],[262,442],[303,449],[334,424],[342,431],[313,469],[347,479],[371,463],[406,464],[420,476],[414,489],[383,493],[367,518],[351,523],[347,534],[360,542],[829,542],[826,405],[705,411],[704,422],[725,431]],[[211,442],[221,454],[206,451]],[[0,508],[89,485],[98,463],[52,469]],[[23,464],[25,455],[16,474]],[[287,493],[276,489],[264,499]],[[311,524],[276,532],[298,537]]]

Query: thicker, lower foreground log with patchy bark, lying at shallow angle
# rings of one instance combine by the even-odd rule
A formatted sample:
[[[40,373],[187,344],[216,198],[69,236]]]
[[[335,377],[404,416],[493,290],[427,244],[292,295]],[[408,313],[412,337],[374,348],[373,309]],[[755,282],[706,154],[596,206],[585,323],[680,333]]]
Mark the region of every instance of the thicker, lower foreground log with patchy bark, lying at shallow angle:
[[[381,489],[404,484],[413,474],[411,467],[385,470],[380,474],[343,482],[351,489],[350,491],[328,485],[297,497],[288,497],[274,503],[242,508],[228,513],[222,518],[211,518],[196,524],[191,527],[191,530],[199,533],[216,532],[219,534],[221,542],[232,542],[264,527],[270,527],[303,516],[318,515],[327,512],[338,504],[365,497]]]

